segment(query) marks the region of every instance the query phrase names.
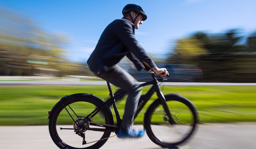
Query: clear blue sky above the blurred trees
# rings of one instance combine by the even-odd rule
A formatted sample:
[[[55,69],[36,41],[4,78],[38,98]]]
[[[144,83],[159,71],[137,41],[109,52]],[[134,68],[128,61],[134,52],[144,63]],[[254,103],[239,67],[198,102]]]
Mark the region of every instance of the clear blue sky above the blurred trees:
[[[148,19],[135,31],[152,56],[168,54],[177,39],[191,33],[256,31],[255,0],[1,0],[0,7],[24,13],[45,31],[69,35],[70,60],[86,61],[105,27],[122,18],[126,4],[143,7]]]

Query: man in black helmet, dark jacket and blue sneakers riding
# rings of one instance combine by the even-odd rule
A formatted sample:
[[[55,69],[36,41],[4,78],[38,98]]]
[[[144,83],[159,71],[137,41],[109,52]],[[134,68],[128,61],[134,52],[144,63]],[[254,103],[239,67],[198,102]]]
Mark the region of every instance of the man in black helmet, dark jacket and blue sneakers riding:
[[[128,92],[123,121],[117,137],[142,137],[145,134],[144,130],[132,129],[142,89],[138,88],[137,81],[117,63],[127,56],[138,71],[154,71],[161,77],[169,73],[165,68],[158,68],[135,39],[134,29],[138,29],[147,18],[142,7],[128,4],[122,13],[122,19],[114,20],[103,31],[87,64],[97,77]]]

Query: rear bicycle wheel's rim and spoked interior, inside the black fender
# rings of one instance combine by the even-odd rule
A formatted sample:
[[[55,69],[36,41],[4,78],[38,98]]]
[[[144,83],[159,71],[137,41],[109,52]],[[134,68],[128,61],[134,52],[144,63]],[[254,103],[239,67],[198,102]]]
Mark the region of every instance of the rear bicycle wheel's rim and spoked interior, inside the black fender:
[[[71,109],[74,111],[72,111]],[[103,138],[109,137],[110,133],[101,132],[101,131],[91,131],[87,130],[90,128],[107,128],[101,126],[92,126],[89,123],[85,122],[86,116],[89,115],[92,111],[96,109],[96,105],[79,101],[69,104],[66,108],[62,108],[57,114],[57,118],[54,121],[55,137],[57,142],[60,142],[65,147],[70,149],[89,149],[89,148],[98,148],[106,142],[106,139]],[[67,112],[67,110],[69,112]],[[74,114],[75,113],[75,114]],[[73,119],[70,117],[73,117]],[[75,121],[74,121],[75,120]],[[99,112],[92,118],[92,123],[108,123],[106,116]],[[64,128],[64,129],[63,129]],[[86,144],[83,141],[83,134],[85,135]],[[98,142],[97,140],[101,140]],[[61,145],[61,146],[62,146]]]

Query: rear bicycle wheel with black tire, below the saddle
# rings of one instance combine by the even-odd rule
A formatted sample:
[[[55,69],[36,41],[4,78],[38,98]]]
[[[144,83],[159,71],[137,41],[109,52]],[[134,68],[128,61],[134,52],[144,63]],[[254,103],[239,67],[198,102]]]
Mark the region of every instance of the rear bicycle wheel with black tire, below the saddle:
[[[70,95],[71,96],[71,95]],[[60,149],[98,149],[103,144],[106,143],[108,137],[110,137],[111,132],[98,132],[86,130],[86,127],[97,127],[91,126],[92,123],[83,123],[86,120],[86,116],[90,112],[94,111],[97,108],[102,107],[104,102],[97,98],[96,96],[71,96],[67,97],[64,101],[58,104],[53,111],[51,111],[51,116],[49,118],[49,132],[52,137],[53,142]],[[72,110],[70,109],[70,107]],[[68,109],[71,115],[75,115],[73,119],[70,117],[66,109]],[[92,122],[98,123],[102,126],[103,124],[113,125],[113,116],[109,108],[104,107],[98,114],[92,118]],[[62,127],[65,127],[63,129]],[[81,128],[85,127],[85,128]],[[73,128],[73,131],[71,131]],[[80,130],[85,134],[86,144],[82,145],[83,137],[74,133],[76,130]],[[101,127],[102,128],[102,127]],[[108,129],[110,126],[104,126],[103,128]],[[83,132],[84,131],[84,132]],[[91,136],[89,136],[89,135]],[[99,136],[96,136],[100,134]],[[96,138],[95,138],[96,137]],[[93,139],[92,139],[93,138]],[[93,142],[96,141],[96,142]]]

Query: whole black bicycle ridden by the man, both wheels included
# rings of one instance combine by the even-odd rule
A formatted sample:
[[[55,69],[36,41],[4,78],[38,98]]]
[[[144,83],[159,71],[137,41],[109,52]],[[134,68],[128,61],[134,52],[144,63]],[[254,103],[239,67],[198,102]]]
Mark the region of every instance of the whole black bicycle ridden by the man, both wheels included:
[[[196,129],[198,116],[196,106],[187,98],[178,94],[163,95],[156,74],[153,80],[140,84],[140,87],[152,85],[139,99],[134,119],[156,92],[156,99],[144,115],[144,129],[148,137],[161,147],[174,147],[184,143]],[[106,143],[111,133],[118,133],[121,118],[115,99],[126,92],[113,95],[107,82],[110,98],[105,102],[86,93],[64,96],[49,112],[49,132],[53,142],[60,149],[98,149]],[[108,106],[112,107],[116,115]],[[164,131],[159,131],[164,128]],[[73,130],[73,131],[72,131]],[[72,133],[73,132],[73,133]]]

